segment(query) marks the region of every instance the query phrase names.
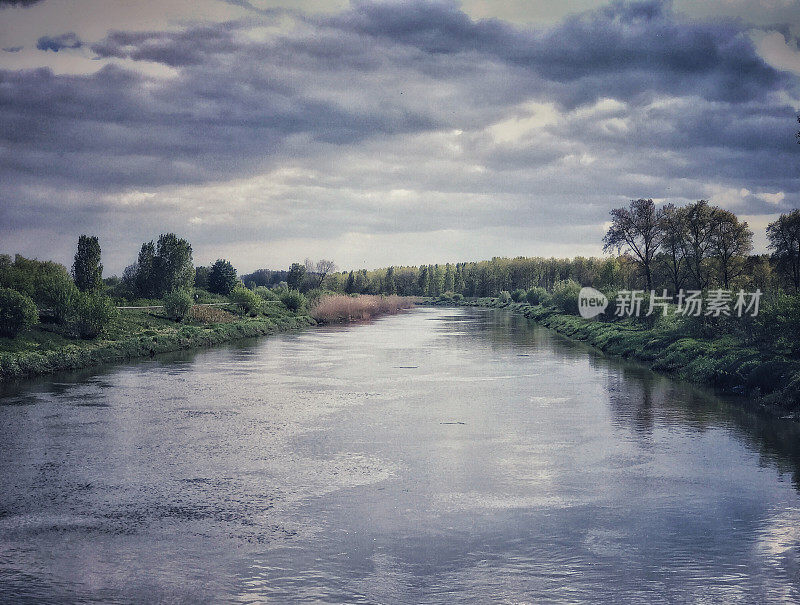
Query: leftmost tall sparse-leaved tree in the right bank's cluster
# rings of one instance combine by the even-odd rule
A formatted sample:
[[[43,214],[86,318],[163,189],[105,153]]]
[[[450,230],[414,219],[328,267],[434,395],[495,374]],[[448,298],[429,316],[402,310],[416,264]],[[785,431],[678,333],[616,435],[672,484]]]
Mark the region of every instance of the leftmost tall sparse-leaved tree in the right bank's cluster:
[[[661,245],[661,212],[653,200],[632,200],[630,208],[614,208],[611,226],[603,238],[603,250],[625,249],[633,253],[647,282],[653,288],[653,258]]]

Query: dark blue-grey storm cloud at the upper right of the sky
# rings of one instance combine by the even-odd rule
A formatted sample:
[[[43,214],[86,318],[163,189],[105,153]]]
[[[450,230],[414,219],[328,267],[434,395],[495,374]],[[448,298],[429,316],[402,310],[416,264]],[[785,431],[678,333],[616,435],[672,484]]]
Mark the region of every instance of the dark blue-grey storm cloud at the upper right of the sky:
[[[472,21],[454,2],[357,2],[322,23],[428,54],[477,53],[530,71],[569,107],[599,96],[698,94],[744,102],[789,79],[755,52],[733,21],[686,23],[671,3],[614,2],[539,31],[496,20]]]

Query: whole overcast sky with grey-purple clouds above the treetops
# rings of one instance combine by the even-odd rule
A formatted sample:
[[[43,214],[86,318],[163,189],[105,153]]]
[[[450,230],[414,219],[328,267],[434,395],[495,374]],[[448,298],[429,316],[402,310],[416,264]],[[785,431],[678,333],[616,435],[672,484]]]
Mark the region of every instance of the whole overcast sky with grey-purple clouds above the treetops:
[[[106,274],[598,255],[610,208],[800,206],[800,0],[0,0],[0,252]]]

